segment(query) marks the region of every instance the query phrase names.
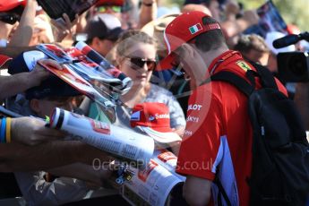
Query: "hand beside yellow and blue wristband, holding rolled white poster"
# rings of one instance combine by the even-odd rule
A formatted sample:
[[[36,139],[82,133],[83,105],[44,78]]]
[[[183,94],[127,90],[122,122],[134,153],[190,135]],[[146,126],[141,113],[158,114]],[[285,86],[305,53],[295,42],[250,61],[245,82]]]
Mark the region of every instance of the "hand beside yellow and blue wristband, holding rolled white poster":
[[[31,117],[12,119],[12,142],[36,145],[64,138],[66,135],[55,129],[47,128],[43,120]]]

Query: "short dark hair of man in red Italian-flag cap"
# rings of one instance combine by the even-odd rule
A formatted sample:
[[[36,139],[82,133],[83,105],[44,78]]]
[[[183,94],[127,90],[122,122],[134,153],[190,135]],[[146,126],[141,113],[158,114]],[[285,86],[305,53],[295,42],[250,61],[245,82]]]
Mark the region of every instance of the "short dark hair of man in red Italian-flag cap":
[[[204,25],[219,23],[210,16],[206,16],[202,19]],[[208,52],[210,50],[217,49],[222,46],[227,47],[226,39],[222,30],[208,30],[195,38],[195,47],[199,48],[203,52]]]

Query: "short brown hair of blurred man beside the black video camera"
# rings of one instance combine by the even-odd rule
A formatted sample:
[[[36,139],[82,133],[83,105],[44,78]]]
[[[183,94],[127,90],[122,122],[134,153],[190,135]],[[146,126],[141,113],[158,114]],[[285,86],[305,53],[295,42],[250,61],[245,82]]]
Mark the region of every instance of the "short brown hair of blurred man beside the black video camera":
[[[241,53],[249,52],[250,50],[256,50],[259,52],[269,52],[270,48],[267,46],[265,39],[257,34],[242,35],[238,39],[235,50]]]

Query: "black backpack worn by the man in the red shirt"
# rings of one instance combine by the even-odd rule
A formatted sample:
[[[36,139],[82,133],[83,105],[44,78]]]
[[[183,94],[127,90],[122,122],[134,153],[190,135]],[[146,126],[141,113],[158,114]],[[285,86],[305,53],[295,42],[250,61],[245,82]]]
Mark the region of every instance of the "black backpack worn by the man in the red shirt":
[[[279,91],[270,71],[259,64],[253,66],[257,72],[246,72],[251,83],[227,71],[210,77],[211,81],[233,84],[248,97],[253,126],[253,167],[247,177],[250,205],[305,206],[309,199],[309,145],[305,128],[293,100]],[[255,77],[262,84],[259,90],[254,89]],[[219,180],[215,183],[227,205],[231,205]]]

